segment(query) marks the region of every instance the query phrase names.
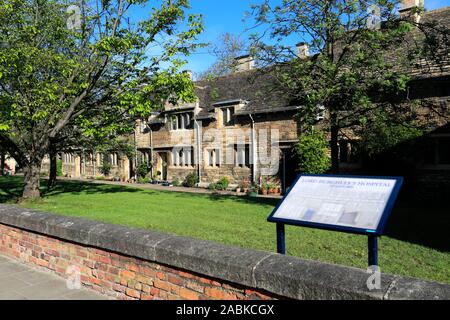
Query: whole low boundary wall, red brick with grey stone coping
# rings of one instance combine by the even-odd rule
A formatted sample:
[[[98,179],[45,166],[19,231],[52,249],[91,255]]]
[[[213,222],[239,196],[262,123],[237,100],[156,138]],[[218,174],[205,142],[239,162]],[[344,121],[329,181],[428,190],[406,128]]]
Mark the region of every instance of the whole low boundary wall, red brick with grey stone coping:
[[[118,299],[450,299],[445,284],[382,274],[370,291],[366,270],[4,204],[0,255],[61,277],[78,268]]]

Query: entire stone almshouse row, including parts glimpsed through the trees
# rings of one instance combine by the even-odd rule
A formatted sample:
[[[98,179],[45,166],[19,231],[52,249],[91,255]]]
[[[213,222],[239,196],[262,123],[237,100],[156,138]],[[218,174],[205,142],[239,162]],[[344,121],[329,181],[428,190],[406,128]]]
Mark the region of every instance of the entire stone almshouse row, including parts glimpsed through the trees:
[[[405,0],[401,14],[410,13],[416,2]],[[450,26],[450,7],[425,12],[420,19]],[[297,50],[299,58],[307,52],[302,45]],[[195,172],[202,186],[224,176],[233,184],[259,183],[261,177],[267,176],[288,187],[296,176],[292,147],[298,141],[296,114],[300,106],[290,103],[283,92],[273,92],[273,81],[270,74],[254,69],[250,56],[240,57],[235,73],[195,82],[195,103],[167,105],[146,121],[138,122],[133,136],[137,159],[116,153],[63,154],[63,171],[72,177],[95,177],[100,175],[102,161],[108,161],[112,165],[111,176],[128,180],[135,174],[136,163],[147,162],[152,164],[151,175],[161,181],[182,181]],[[410,98],[430,101],[448,110],[450,68],[416,71],[411,87]],[[317,120],[320,122],[321,115]],[[438,176],[447,185],[448,119],[444,117],[441,128],[427,136],[426,141],[425,149],[417,148],[411,154],[414,174],[424,179]],[[361,169],[355,150],[353,141],[341,140],[341,167],[346,171]]]

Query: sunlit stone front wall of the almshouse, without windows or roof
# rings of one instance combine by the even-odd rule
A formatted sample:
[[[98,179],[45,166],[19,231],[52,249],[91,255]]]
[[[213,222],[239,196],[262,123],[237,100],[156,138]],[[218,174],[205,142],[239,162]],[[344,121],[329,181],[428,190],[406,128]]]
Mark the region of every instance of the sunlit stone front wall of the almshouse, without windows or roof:
[[[235,108],[238,109],[238,106]],[[252,116],[257,134],[257,176],[271,175],[265,174],[266,172],[273,172],[273,175],[278,173],[280,154],[278,149],[274,148],[272,151],[272,145],[278,146],[280,141],[291,145],[295,143],[298,138],[298,124],[294,116],[295,112],[292,111]],[[216,108],[214,120],[201,121],[201,182],[208,184],[222,177],[228,177],[234,184],[250,180],[252,166],[236,164],[233,144],[243,142],[252,148],[252,118],[249,115],[235,116],[232,126],[223,126],[221,117],[221,109]],[[196,131],[194,128],[172,131],[170,122],[152,126],[151,132],[137,130],[137,149],[146,154],[144,158],[148,158],[150,150],[153,149],[155,172],[161,171],[158,154],[167,153],[167,179],[183,181],[189,173],[197,172],[198,168],[194,162],[184,166],[174,165],[173,151],[180,146],[192,147],[195,157],[198,158]],[[208,156],[211,150],[219,150],[215,157],[220,157],[220,161],[213,161],[212,166]],[[265,170],[268,168],[271,170]]]

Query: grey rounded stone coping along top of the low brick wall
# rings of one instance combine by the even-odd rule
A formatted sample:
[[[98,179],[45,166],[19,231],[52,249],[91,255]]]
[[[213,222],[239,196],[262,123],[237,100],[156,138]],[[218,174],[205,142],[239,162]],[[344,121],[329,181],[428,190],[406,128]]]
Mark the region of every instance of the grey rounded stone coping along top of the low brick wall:
[[[450,299],[450,286],[308,261],[0,204],[0,223],[60,240],[184,269],[288,299]]]

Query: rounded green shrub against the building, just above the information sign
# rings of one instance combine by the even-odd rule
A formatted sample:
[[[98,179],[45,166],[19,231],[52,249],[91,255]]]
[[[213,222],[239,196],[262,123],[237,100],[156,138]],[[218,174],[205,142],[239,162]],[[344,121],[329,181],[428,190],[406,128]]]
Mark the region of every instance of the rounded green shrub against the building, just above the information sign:
[[[324,134],[316,129],[301,134],[295,153],[301,173],[320,174],[327,172],[330,168],[328,142]]]

